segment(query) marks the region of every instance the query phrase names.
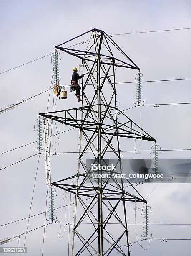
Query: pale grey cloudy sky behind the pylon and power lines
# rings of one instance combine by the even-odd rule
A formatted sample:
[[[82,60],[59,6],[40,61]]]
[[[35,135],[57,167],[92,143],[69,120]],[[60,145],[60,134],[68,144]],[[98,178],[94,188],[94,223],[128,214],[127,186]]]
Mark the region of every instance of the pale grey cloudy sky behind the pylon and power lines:
[[[190,1],[0,1],[1,62],[0,71],[16,67],[25,62],[51,54],[58,45],[91,28],[100,28],[108,34],[153,31],[173,28],[189,28]],[[190,78],[190,30],[166,31],[113,36],[113,40],[141,68],[145,80]],[[60,77],[62,84],[69,84],[71,69],[80,64],[78,59],[61,54]],[[0,108],[18,103],[50,88],[53,71],[51,56],[23,67],[0,74]],[[135,71],[117,72],[116,82],[133,81]],[[189,80],[171,82],[148,82],[143,84],[143,99],[146,104],[190,102]],[[118,108],[123,110],[134,105],[135,85],[117,85]],[[48,92],[23,102],[15,109],[0,115],[0,153],[35,141],[34,121],[38,113],[46,112]],[[51,92],[48,110],[52,110]],[[68,99],[58,100],[56,110],[78,107],[75,95],[68,91]],[[140,120],[141,110],[141,120]],[[126,114],[150,133],[161,145],[161,149],[190,148],[191,120],[190,105],[169,105],[153,108],[143,106],[126,111]],[[62,125],[60,131],[69,129]],[[53,134],[56,133],[53,126]],[[69,131],[60,135],[56,151],[78,151],[79,131]],[[58,141],[53,137],[52,143]],[[153,144],[142,142],[142,149],[150,149]],[[58,146],[58,145],[57,145]],[[138,148],[138,144],[136,145]],[[35,144],[0,155],[0,169],[31,156]],[[134,150],[134,141],[121,139],[121,150]],[[149,158],[150,153],[122,153],[123,158]],[[163,151],[161,158],[190,158],[190,151]],[[53,156],[52,179],[56,181],[75,174],[77,154]],[[72,163],[72,164],[71,164]],[[35,180],[38,156],[0,171],[0,225],[9,223],[29,214]],[[156,184],[143,184],[136,188],[147,197]],[[44,156],[40,155],[31,215],[45,211],[46,202]],[[190,183],[158,184],[148,197],[152,208],[151,223],[191,223]],[[66,204],[69,203],[66,199]],[[72,198],[73,200],[73,198]],[[57,189],[55,207],[65,205],[63,192]],[[134,223],[134,203],[128,204],[129,222]],[[66,214],[66,218],[65,218]],[[69,221],[69,208],[56,211],[60,222]],[[71,218],[73,219],[73,209]],[[137,212],[137,222],[141,214]],[[44,215],[30,218],[28,230],[43,225]],[[26,231],[27,220],[0,227],[0,238],[18,236]],[[68,226],[59,224],[45,228],[45,256],[68,255]],[[151,225],[154,238],[191,238],[189,226]],[[137,227],[138,238],[143,233]],[[129,226],[130,242],[136,241],[135,226]],[[25,236],[20,237],[23,246]],[[42,255],[43,228],[28,233],[26,246],[28,255]],[[71,241],[70,241],[71,244]],[[8,246],[18,246],[18,238]],[[148,241],[141,243],[147,248]],[[151,241],[144,251],[137,243],[131,247],[134,256],[188,256],[191,253],[190,241]],[[113,254],[115,255],[115,254]]]

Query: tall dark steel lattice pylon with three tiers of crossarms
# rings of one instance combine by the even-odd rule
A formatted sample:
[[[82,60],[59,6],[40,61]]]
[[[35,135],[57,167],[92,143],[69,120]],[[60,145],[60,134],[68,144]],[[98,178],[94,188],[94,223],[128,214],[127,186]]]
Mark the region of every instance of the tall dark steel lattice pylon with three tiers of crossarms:
[[[89,40],[82,39],[83,42],[76,46],[77,49],[68,47],[68,43],[73,44],[76,39],[81,41],[83,36],[89,36]],[[81,49],[84,47],[83,43],[86,43],[85,50]],[[82,85],[84,106],[40,114],[46,120],[49,118],[80,130],[78,173],[51,183],[75,194],[72,256],[130,255],[126,202],[146,203],[146,200],[131,184],[128,191],[132,192],[126,192],[122,177],[90,179],[92,171],[85,162],[85,156],[88,154],[94,163],[104,164],[109,151],[110,158],[116,159],[118,172],[122,173],[120,137],[156,142],[116,106],[115,68],[140,69],[110,36],[99,29],[94,28],[56,48],[82,59],[84,70],[88,72]],[[102,174],[102,171],[98,171],[98,174]],[[74,179],[75,184],[72,182]],[[77,205],[81,209],[80,213],[77,212]],[[91,225],[85,226],[84,222]],[[80,246],[79,243],[75,246],[74,241],[78,241]],[[124,244],[127,247],[120,247]]]

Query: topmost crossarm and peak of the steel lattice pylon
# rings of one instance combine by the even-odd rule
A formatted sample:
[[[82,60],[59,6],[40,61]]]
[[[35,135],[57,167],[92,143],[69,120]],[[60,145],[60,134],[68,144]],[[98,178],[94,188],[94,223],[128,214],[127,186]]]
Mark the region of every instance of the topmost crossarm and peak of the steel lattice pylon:
[[[89,36],[89,38],[85,39],[86,36]],[[74,44],[73,46],[68,45],[68,43],[75,43],[76,39],[81,39],[82,41]],[[73,48],[74,46],[75,48]],[[91,62],[94,62],[95,56],[99,56],[100,64],[111,65],[111,59],[113,59],[113,66],[137,69],[140,71],[140,68],[118,46],[118,44],[113,41],[111,36],[101,29],[93,28],[79,36],[75,36],[62,44],[55,46],[55,48],[65,51],[66,53],[80,59]],[[118,55],[120,55],[120,59],[116,58]]]

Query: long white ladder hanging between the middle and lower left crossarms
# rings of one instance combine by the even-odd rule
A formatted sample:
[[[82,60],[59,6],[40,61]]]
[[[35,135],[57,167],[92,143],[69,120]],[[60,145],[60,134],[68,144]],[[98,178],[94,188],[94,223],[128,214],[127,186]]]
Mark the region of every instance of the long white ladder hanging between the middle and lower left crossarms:
[[[50,185],[51,176],[50,176],[50,144],[49,144],[48,118],[44,118],[44,146],[45,146],[46,184]]]

